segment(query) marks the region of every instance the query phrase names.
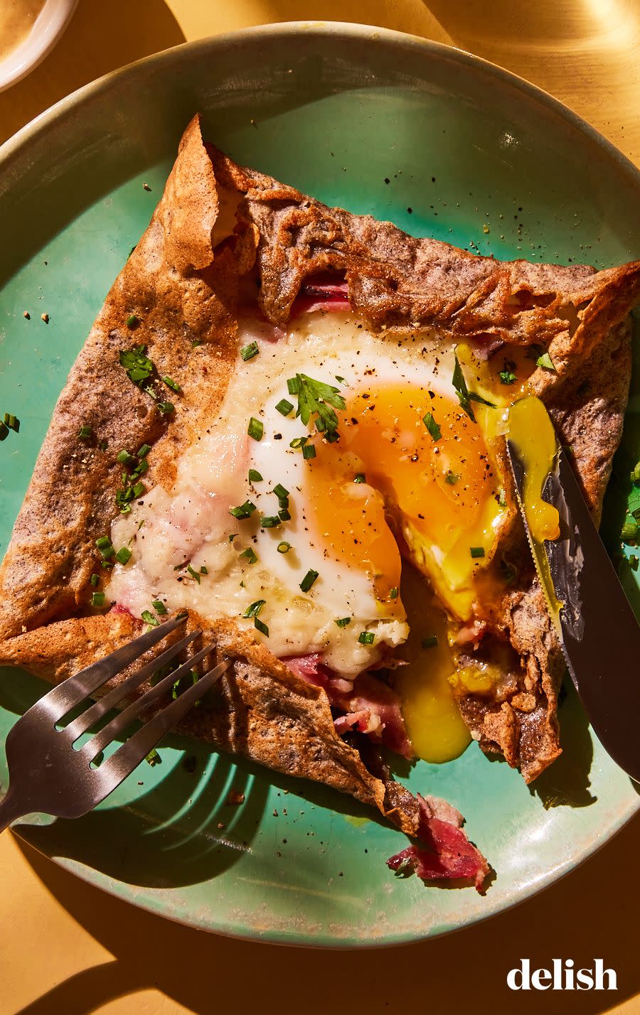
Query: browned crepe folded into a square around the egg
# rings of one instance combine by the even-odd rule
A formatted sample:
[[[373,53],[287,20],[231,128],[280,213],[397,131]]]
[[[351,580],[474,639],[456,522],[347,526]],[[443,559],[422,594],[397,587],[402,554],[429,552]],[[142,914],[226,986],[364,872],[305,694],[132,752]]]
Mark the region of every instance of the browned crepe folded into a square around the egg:
[[[196,118],[55,409],[0,568],[0,662],[60,680],[138,629],[126,615],[86,615],[94,541],[116,515],[115,456],[124,447],[151,445],[145,479],[169,488],[176,459],[223,399],[246,279],[257,272],[262,311],[278,324],[304,279],[320,270],[345,273],[351,306],[376,330],[429,326],[452,342],[489,336],[550,345],[558,373],[536,370],[532,388],[572,445],[598,515],[622,432],[630,379],[626,318],[640,290],[640,264],[594,272],[501,263],[417,240],[207,152]],[[126,324],[131,315],[141,322],[135,331]],[[140,343],[158,374],[182,388],[173,418],[161,416],[119,365],[119,351]],[[79,445],[77,432],[87,422],[107,451]],[[508,549],[520,576],[492,624],[493,636],[508,646],[504,686],[498,695],[463,695],[459,704],[481,745],[502,751],[530,780],[560,751],[563,666],[518,524]],[[184,732],[351,793],[415,831],[413,798],[372,775],[337,736],[324,691],[295,677],[233,623],[200,618],[200,626],[237,662],[216,707],[192,713]]]

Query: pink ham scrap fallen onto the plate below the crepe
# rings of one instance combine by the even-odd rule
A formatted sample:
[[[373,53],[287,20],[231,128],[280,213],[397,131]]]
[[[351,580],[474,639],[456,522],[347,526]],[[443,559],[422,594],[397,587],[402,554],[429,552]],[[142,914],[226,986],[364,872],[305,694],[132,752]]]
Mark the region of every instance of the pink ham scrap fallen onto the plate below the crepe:
[[[408,845],[387,860],[392,871],[412,869],[426,883],[443,878],[472,881],[478,892],[491,868],[462,831],[463,817],[444,800],[421,797],[419,837],[426,844]]]

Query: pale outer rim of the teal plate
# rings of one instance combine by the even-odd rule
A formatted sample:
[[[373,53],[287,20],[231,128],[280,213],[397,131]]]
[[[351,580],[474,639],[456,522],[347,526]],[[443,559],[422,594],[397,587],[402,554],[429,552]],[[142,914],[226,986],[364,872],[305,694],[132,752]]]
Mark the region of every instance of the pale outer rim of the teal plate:
[[[78,107],[92,100],[100,100],[103,94],[108,92],[112,87],[117,86],[120,82],[126,81],[127,77],[134,77],[143,68],[148,69],[151,66],[159,69],[162,69],[163,66],[171,67],[174,62],[180,62],[186,53],[205,53],[207,51],[215,50],[218,47],[223,47],[230,43],[237,44],[243,43],[244,41],[250,42],[252,39],[265,36],[279,37],[280,39],[283,39],[286,37],[299,36],[301,32],[304,32],[305,36],[315,37],[316,39],[330,39],[334,36],[341,36],[346,39],[350,38],[361,41],[369,41],[372,46],[382,43],[389,47],[395,47],[396,49],[408,48],[413,52],[420,51],[427,59],[429,59],[429,57],[446,59],[460,63],[468,67],[470,70],[479,71],[483,74],[497,79],[503,84],[515,88],[526,98],[538,103],[549,112],[563,119],[573,129],[578,130],[592,144],[599,148],[607,159],[613,159],[619,172],[622,172],[628,178],[630,185],[633,188],[637,188],[640,192],[640,168],[636,166],[631,159],[628,158],[628,156],[620,151],[620,149],[617,148],[612,141],[600,134],[596,128],[580,117],[579,114],[575,113],[572,109],[560,99],[556,98],[554,95],[550,94],[543,88],[532,84],[530,81],[527,81],[518,74],[506,70],[489,60],[485,60],[483,57],[475,56],[466,50],[426,40],[420,36],[410,35],[408,32],[396,31],[390,28],[383,28],[376,25],[358,22],[311,20],[282,21],[273,24],[254,25],[235,31],[208,36],[204,39],[182,43],[179,46],[174,46],[168,50],[162,51],[161,53],[150,54],[149,56],[127,64],[124,67],[110,71],[102,77],[97,78],[94,81],[90,81],[87,84],[82,85],[69,95],[61,98],[52,107],[37,116],[29,123],[25,124],[22,128],[20,128],[20,130],[0,145],[0,175],[3,174],[3,172],[10,165],[13,159],[20,156],[23,149],[27,145],[31,144],[37,138],[46,136],[47,132],[52,127],[56,126],[61,120],[72,116]],[[291,947],[300,947],[301,945],[304,945],[306,947],[320,948],[324,950],[363,950],[370,948],[397,947],[414,941],[435,939],[447,934],[455,933],[459,930],[464,930],[467,927],[474,926],[475,924],[489,920],[494,916],[498,916],[501,912],[512,909],[514,906],[526,901],[538,892],[551,887],[571,871],[575,870],[589,857],[601,850],[638,814],[639,811],[640,796],[635,801],[631,800],[626,810],[612,821],[606,828],[604,838],[600,839],[596,837],[593,841],[585,844],[578,854],[573,854],[571,859],[566,861],[561,868],[557,868],[554,871],[549,872],[543,876],[543,878],[534,884],[521,889],[517,898],[508,900],[506,903],[504,899],[496,899],[494,904],[490,903],[487,911],[478,915],[472,915],[456,927],[437,929],[435,931],[422,934],[407,932],[398,935],[395,938],[387,937],[384,940],[370,938],[367,940],[351,940],[348,942],[339,942],[338,940],[335,941],[335,943],[315,942],[310,941],[308,938],[301,940],[289,939],[279,935],[268,935],[268,933],[265,934],[264,932],[258,934],[250,928],[247,928],[245,932],[242,932],[238,929],[232,930],[225,927],[204,926],[193,918],[187,919],[177,915],[175,911],[170,911],[169,908],[162,902],[159,905],[153,905],[150,899],[136,898],[133,900],[126,898],[126,896],[124,896],[118,889],[118,885],[121,882],[119,882],[117,878],[106,875],[101,871],[91,870],[79,861],[74,861],[65,857],[55,857],[51,856],[49,853],[45,853],[40,850],[36,843],[33,843],[29,840],[27,834],[23,834],[21,832],[22,828],[26,829],[29,827],[28,824],[18,824],[12,828],[12,831],[21,841],[26,842],[29,848],[37,850],[37,852],[39,852],[42,856],[48,857],[59,867],[79,877],[87,884],[91,884],[94,887],[100,888],[102,891],[121,899],[122,901],[134,904],[136,907],[152,912],[155,916],[162,916],[163,918],[169,919],[175,923],[240,940],[262,940],[269,944],[283,944]]]

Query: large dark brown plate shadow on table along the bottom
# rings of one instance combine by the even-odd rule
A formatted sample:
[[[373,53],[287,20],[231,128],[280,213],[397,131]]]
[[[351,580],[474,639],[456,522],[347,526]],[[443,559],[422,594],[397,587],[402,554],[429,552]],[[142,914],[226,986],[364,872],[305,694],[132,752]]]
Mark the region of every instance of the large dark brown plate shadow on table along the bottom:
[[[472,1008],[478,1015],[495,1015],[517,1000],[518,1012],[537,1015],[537,992],[514,999],[506,987],[507,972],[522,957],[531,960],[531,968],[549,967],[554,957],[573,958],[578,968],[592,967],[594,958],[602,958],[605,967],[613,967],[617,993],[582,993],[579,1010],[585,1015],[601,1013],[640,991],[637,895],[630,891],[640,851],[637,820],[579,870],[490,923],[435,941],[358,955],[232,940],[172,924],[103,894],[19,845],[49,891],[114,955],[112,962],[57,985],[21,1015],[94,1011],[152,988],[196,1012],[214,1008],[324,1015],[328,1010],[366,1010],[382,1015],[412,1010],[418,998],[428,996],[435,1009]],[[562,992],[545,995],[551,1015],[575,1011],[575,1003]]]

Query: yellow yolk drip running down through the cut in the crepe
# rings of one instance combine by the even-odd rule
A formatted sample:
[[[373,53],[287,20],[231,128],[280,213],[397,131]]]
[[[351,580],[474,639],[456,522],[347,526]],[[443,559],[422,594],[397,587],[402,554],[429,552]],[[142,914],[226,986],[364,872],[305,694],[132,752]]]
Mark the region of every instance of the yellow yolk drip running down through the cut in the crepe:
[[[453,698],[450,678],[455,663],[447,641],[447,619],[426,598],[424,580],[413,567],[402,568],[401,590],[410,631],[396,653],[408,664],[395,671],[402,715],[421,758],[450,761],[462,753],[471,737]],[[423,639],[433,635],[438,644],[425,648]]]

